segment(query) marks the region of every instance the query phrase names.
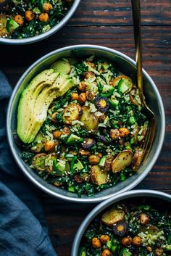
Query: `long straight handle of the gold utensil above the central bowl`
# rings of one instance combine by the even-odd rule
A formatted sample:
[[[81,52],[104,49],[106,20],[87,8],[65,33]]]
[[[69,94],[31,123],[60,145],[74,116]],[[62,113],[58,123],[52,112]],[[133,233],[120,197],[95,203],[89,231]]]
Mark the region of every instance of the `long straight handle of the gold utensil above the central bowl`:
[[[142,77],[142,44],[141,44],[141,11],[140,0],[131,0],[133,11],[133,31],[135,41],[135,61],[137,67],[137,83],[141,103],[144,105]]]

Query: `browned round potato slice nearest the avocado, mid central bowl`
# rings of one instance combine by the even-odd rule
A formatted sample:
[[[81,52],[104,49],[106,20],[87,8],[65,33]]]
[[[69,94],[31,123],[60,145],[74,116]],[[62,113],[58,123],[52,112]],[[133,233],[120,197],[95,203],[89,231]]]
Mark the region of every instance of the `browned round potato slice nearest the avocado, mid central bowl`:
[[[78,120],[80,110],[78,104],[70,104],[64,109],[63,121],[67,125],[72,125],[72,122]]]

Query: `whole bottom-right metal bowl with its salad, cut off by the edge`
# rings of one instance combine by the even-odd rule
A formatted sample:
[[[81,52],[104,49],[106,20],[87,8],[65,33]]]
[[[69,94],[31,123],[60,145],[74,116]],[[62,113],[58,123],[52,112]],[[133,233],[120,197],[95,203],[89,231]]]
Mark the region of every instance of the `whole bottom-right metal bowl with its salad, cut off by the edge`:
[[[81,224],[72,256],[170,256],[171,197],[135,190],[94,208]]]

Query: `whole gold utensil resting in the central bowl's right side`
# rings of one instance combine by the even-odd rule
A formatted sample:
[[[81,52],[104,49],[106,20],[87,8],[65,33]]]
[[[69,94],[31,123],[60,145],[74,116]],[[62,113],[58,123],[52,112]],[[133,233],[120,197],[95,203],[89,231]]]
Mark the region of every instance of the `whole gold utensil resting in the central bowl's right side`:
[[[156,130],[156,118],[154,112],[147,106],[145,97],[143,95],[143,76],[142,76],[142,44],[141,44],[141,10],[140,1],[131,0],[132,11],[133,11],[133,30],[134,30],[134,41],[135,41],[135,61],[137,67],[137,83],[138,91],[143,106],[143,112],[149,120],[149,129],[146,133],[143,141],[143,162],[146,161],[151,145],[154,139],[154,133]]]

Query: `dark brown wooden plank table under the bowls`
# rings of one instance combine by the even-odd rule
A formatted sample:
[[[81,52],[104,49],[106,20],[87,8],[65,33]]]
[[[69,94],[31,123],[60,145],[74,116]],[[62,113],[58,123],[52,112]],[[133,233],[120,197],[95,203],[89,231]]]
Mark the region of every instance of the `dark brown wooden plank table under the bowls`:
[[[157,189],[171,194],[171,3],[141,0],[141,8],[143,66],[162,95],[166,135],[159,160],[136,189]],[[36,59],[73,44],[108,46],[134,58],[130,0],[82,0],[72,20],[54,36],[28,46],[1,45],[1,69],[14,86]],[[59,256],[69,256],[78,226],[95,205],[60,202],[44,194],[43,202],[51,241]]]

